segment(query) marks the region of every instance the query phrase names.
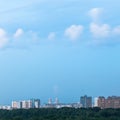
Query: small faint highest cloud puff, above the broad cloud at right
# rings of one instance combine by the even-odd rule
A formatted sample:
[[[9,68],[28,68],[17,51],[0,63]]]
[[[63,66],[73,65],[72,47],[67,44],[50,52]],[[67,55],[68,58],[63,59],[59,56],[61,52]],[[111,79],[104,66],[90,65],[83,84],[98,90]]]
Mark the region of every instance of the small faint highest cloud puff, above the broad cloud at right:
[[[100,16],[103,12],[102,8],[92,8],[88,14],[92,18],[93,22],[98,22],[100,20]]]

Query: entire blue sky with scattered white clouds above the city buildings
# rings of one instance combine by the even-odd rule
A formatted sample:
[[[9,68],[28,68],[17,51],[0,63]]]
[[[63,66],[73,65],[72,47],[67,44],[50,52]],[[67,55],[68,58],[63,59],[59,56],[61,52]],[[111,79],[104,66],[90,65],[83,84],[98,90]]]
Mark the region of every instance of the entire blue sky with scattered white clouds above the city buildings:
[[[0,3],[0,104],[120,96],[119,0]]]

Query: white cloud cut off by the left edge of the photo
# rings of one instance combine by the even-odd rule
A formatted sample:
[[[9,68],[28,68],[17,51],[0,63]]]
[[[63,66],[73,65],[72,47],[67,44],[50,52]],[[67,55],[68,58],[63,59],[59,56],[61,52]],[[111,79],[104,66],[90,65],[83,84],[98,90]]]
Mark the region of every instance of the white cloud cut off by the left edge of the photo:
[[[8,37],[4,29],[0,28],[0,48],[3,48],[8,43]]]

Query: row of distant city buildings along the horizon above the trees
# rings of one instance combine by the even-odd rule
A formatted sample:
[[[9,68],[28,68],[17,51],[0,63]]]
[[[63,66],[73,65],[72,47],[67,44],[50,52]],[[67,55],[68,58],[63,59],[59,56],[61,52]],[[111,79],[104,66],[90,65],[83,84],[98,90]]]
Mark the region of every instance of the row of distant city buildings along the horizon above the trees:
[[[40,99],[29,99],[29,100],[20,100],[12,101],[11,106],[1,105],[0,109],[4,110],[13,110],[13,109],[31,109],[31,108],[93,108],[99,107],[101,109],[106,108],[120,108],[120,96],[99,96],[92,98],[91,96],[81,96],[79,102],[76,103],[61,103],[58,98],[55,98],[52,101],[51,98],[48,99],[48,102],[41,104]]]

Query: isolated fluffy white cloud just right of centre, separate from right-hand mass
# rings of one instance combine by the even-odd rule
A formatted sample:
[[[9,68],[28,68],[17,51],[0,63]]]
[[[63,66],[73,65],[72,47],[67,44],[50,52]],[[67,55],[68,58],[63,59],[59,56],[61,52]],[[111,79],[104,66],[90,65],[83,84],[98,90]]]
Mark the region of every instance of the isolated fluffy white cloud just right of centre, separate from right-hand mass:
[[[82,25],[72,25],[65,30],[65,36],[71,40],[76,40],[83,32]]]

